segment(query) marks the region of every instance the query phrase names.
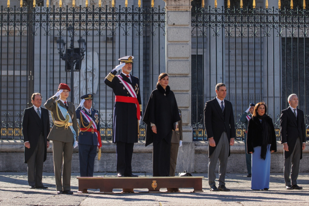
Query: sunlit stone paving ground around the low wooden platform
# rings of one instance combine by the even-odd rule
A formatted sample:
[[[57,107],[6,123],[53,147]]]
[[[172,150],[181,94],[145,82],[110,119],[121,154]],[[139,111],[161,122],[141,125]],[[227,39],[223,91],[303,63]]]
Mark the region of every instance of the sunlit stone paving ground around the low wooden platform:
[[[134,173],[139,176],[152,176],[148,173]],[[95,176],[114,176],[114,173],[95,173]],[[250,178],[246,174],[227,174],[226,186],[231,192],[210,192],[207,174],[204,176],[204,192],[192,193],[193,189],[180,189],[180,193],[146,193],[145,189],[136,189],[139,193],[98,194],[99,190],[88,190],[88,194],[76,193],[79,173],[72,173],[71,190],[74,195],[56,195],[53,173],[43,173],[43,183],[48,189],[28,189],[27,174],[0,173],[0,206],[309,206],[309,173],[298,177],[303,190],[285,190],[283,174],[272,173],[268,191],[251,190]],[[165,191],[165,189],[161,189]]]

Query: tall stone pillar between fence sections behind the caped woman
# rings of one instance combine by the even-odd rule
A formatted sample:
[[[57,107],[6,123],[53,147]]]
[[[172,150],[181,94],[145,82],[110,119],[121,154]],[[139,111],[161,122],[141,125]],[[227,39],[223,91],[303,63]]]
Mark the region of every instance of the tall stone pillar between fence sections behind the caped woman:
[[[165,0],[166,73],[182,111],[183,146],[177,172],[194,172],[194,143],[191,127],[191,0]]]

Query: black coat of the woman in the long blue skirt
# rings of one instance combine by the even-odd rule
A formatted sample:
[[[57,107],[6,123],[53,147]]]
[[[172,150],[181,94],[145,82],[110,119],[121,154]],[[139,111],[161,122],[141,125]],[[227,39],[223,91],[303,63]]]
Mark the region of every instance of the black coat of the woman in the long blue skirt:
[[[276,132],[273,124],[273,120],[268,116],[264,119],[269,124],[271,129],[271,138],[268,144],[270,144],[270,150],[277,152]],[[263,128],[262,123],[258,117],[252,117],[248,123],[247,130],[247,153],[254,153],[254,148],[262,146]]]

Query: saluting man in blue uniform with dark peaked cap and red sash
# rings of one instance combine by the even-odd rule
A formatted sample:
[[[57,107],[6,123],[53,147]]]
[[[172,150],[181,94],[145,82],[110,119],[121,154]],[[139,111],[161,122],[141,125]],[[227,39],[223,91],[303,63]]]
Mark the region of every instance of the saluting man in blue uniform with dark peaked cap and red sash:
[[[97,146],[99,149],[102,146],[99,111],[91,108],[92,94],[86,94],[80,99],[82,101],[76,109],[80,129],[78,136],[79,171],[80,177],[93,177]]]

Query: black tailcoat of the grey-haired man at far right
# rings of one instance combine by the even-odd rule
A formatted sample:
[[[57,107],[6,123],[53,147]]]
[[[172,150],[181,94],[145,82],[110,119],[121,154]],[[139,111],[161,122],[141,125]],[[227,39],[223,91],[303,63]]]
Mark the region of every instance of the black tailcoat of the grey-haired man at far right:
[[[303,142],[306,142],[305,117],[304,112],[300,109],[297,109],[297,119],[298,121],[296,121],[295,115],[289,107],[281,111],[281,144],[287,143],[287,146],[289,148],[288,152],[283,151],[284,159],[289,157],[293,152],[298,137],[300,137],[301,144],[303,144]],[[301,159],[302,158],[303,150],[301,151]]]

